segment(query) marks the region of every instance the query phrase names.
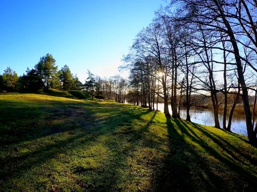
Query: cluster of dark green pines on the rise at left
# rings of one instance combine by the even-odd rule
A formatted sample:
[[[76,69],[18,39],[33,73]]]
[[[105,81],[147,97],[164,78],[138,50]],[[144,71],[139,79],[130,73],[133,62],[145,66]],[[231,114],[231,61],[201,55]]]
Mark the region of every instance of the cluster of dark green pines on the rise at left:
[[[78,77],[72,75],[65,65],[61,70],[56,66],[56,60],[51,54],[46,54],[33,69],[27,69],[26,74],[18,76],[10,67],[0,75],[0,90],[37,92],[49,88],[65,90],[80,90],[83,84]]]

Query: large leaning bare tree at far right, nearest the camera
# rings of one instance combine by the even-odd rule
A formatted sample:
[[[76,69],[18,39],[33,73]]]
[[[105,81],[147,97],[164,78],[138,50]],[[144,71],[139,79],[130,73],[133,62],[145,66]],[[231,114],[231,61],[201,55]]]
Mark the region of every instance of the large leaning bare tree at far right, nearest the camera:
[[[237,6],[237,10],[240,10],[240,8],[244,7],[246,10],[246,15],[248,16],[248,20],[246,21],[246,17],[238,17],[240,16],[240,13],[238,13],[237,10],[235,10],[237,5],[236,1],[218,1],[218,0],[178,0],[174,1],[173,3],[179,5],[179,13],[180,19],[183,19],[189,23],[199,24],[200,26],[206,26],[206,31],[222,31],[224,34],[227,35],[228,41],[230,42],[232,46],[232,50],[227,50],[228,52],[231,52],[234,55],[235,60],[235,68],[237,71],[238,76],[238,82],[240,83],[240,89],[241,89],[241,96],[244,103],[244,112],[245,112],[245,119],[246,119],[246,127],[247,127],[247,133],[248,133],[248,139],[249,141],[254,144],[257,143],[256,135],[253,131],[252,121],[251,121],[251,112],[250,112],[250,105],[249,105],[249,97],[248,97],[248,88],[245,81],[244,71],[243,71],[243,63],[242,60],[247,62],[249,66],[251,66],[251,63],[249,63],[246,59],[242,57],[240,54],[240,46],[238,44],[244,45],[247,47],[247,44],[244,44],[244,41],[240,40],[240,37],[243,36],[242,30],[238,30],[237,26],[242,23],[241,26],[247,26],[251,28],[252,32],[248,33],[252,37],[252,34],[255,36],[255,31],[253,28],[256,29],[255,24],[251,22],[252,16],[249,17],[249,14],[247,13],[246,4],[244,4],[246,1],[240,1],[240,6]],[[250,1],[248,1],[250,3]],[[255,4],[251,4],[252,6]],[[236,12],[237,11],[237,12]],[[237,13],[237,15],[236,15]],[[245,20],[243,20],[245,19]],[[239,23],[238,23],[239,21]],[[243,23],[245,22],[245,23]],[[246,29],[246,28],[245,28]],[[244,30],[247,31],[247,30]],[[246,33],[246,32],[245,32]],[[250,38],[250,37],[249,37]],[[255,38],[256,39],[256,38]],[[255,42],[255,39],[252,41],[253,44]],[[249,47],[249,46],[248,46]],[[222,50],[221,47],[216,47],[216,49]],[[253,69],[255,69],[253,67]],[[256,70],[256,69],[255,69]]]

